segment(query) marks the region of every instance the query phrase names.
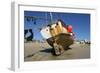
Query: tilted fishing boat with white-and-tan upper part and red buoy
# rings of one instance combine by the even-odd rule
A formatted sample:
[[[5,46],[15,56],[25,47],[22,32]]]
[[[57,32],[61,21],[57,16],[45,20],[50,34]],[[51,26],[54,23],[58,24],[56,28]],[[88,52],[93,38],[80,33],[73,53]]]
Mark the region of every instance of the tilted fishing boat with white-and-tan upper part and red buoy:
[[[53,47],[55,55],[61,55],[74,42],[74,33],[71,25],[66,25],[61,19],[47,25],[40,31],[41,35]]]

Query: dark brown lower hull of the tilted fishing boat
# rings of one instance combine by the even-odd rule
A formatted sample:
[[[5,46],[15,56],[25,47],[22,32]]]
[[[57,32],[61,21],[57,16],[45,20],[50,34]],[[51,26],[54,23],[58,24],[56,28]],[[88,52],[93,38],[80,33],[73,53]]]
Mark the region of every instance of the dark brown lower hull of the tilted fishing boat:
[[[51,47],[54,47],[53,44],[56,42],[58,45],[61,45],[64,49],[67,49],[70,45],[73,44],[74,39],[70,34],[61,33],[57,36],[47,39],[48,44]]]

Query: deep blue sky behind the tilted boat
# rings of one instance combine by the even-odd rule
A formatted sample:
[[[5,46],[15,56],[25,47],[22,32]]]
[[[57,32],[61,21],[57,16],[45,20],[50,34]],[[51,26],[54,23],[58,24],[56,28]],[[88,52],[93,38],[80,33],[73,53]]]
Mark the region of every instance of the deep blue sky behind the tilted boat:
[[[36,24],[34,24],[35,19],[34,21],[24,19],[24,29],[31,28],[34,32],[34,39],[43,39],[39,28],[48,25],[50,12],[24,11],[24,16],[36,17]],[[77,40],[90,40],[90,14],[52,12],[52,18],[53,22],[62,19],[66,25],[72,25]]]

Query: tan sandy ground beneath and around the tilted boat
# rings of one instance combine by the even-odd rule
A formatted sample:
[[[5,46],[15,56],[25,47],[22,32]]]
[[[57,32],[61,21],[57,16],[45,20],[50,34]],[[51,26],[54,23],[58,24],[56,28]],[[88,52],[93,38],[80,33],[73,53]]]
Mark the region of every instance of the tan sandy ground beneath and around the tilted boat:
[[[60,56],[52,54],[53,48],[46,42],[27,42],[24,44],[24,61],[69,60],[90,58],[89,44],[73,44]]]

